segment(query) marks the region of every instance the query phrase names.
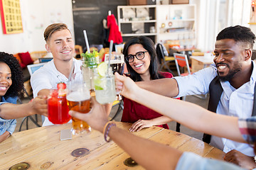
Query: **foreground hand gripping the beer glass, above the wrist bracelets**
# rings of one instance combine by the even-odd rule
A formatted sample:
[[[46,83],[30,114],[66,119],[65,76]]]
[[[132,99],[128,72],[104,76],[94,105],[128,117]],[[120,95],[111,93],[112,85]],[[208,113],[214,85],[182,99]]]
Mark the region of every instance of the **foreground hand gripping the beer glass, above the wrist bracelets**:
[[[95,97],[91,98],[92,109],[89,113],[79,113],[76,111],[69,111],[69,114],[80,120],[88,123],[93,129],[103,132],[105,124],[108,122],[105,106],[98,103]]]

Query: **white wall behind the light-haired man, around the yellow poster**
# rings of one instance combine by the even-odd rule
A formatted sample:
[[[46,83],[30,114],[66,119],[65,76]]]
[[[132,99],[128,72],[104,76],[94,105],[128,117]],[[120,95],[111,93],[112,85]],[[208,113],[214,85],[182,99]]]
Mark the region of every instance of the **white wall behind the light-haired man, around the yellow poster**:
[[[43,32],[51,23],[66,23],[74,35],[70,0],[20,0],[20,3],[23,33],[3,34],[0,25],[0,51],[16,53],[46,50]]]

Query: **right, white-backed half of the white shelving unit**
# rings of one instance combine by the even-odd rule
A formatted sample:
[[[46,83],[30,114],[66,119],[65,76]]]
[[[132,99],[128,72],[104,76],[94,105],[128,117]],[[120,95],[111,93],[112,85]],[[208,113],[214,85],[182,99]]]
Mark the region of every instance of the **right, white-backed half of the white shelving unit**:
[[[196,5],[156,6],[156,42],[179,40],[181,46],[196,46]]]

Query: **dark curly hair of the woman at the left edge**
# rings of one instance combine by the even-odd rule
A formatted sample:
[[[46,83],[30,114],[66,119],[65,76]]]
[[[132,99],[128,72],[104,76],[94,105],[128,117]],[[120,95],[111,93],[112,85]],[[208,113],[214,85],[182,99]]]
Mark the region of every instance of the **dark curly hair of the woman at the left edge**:
[[[23,94],[23,72],[21,71],[21,66],[14,55],[8,54],[6,52],[0,52],[0,62],[6,63],[11,69],[11,81],[12,84],[8,91],[4,95],[4,98],[21,96]]]

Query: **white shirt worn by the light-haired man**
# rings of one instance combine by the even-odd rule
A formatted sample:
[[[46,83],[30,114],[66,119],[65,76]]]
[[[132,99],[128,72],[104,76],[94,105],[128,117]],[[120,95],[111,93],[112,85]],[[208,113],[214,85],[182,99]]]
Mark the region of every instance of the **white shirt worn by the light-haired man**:
[[[75,80],[82,79],[82,72],[81,72],[81,65],[82,61],[80,60],[75,60],[73,58],[74,62],[74,73],[75,75]],[[39,91],[42,89],[53,89],[57,88],[57,84],[60,82],[64,82],[65,84],[68,83],[68,78],[65,77],[64,74],[60,73],[53,62],[51,60],[47,64],[43,65],[40,69],[36,70],[31,76],[31,86],[33,89],[33,97],[35,98],[38,94]],[[69,121],[71,123],[72,120]],[[53,123],[50,123],[48,118],[46,118],[43,122],[43,126],[46,125],[53,125]]]

